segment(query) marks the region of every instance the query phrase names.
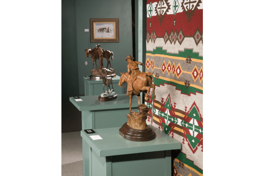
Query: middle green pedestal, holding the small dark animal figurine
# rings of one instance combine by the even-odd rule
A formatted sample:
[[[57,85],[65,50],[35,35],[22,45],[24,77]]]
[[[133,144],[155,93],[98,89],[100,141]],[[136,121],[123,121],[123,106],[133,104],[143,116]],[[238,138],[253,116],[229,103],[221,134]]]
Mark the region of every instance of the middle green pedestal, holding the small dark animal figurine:
[[[101,102],[98,96],[80,97],[82,101],[76,101],[70,97],[70,102],[82,111],[82,130],[121,127],[127,122],[126,114],[129,113],[129,96],[118,94],[116,100]],[[138,97],[132,98],[132,111],[138,112]],[[89,166],[89,153],[84,151],[86,142],[82,139],[83,168]],[[86,147],[87,148],[87,147]],[[86,169],[87,170],[87,169]],[[83,170],[84,171],[84,170]],[[84,176],[89,175],[89,168]]]

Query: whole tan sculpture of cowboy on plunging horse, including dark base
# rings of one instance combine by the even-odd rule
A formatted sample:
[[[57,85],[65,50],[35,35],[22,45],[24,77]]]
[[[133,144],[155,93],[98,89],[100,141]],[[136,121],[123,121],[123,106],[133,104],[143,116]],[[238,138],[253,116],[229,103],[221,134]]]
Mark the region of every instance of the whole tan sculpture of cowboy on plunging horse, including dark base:
[[[122,76],[118,83],[120,87],[124,87],[122,86],[123,83],[127,82],[126,95],[129,96],[129,114],[126,115],[128,121],[119,129],[119,134],[130,141],[151,141],[156,138],[156,133],[146,124],[146,113],[148,113],[150,108],[144,103],[140,104],[140,93],[145,91],[145,98],[148,102],[150,99],[148,96],[150,88],[153,88],[153,99],[156,99],[155,84],[152,84],[151,77],[154,72],[143,72],[145,64],[138,61],[132,61],[132,59],[134,58],[131,57],[131,55],[128,55],[125,58],[125,60],[128,61],[127,73],[121,73]],[[138,64],[143,66],[142,73],[139,71]],[[138,112],[131,111],[133,95],[138,96]]]

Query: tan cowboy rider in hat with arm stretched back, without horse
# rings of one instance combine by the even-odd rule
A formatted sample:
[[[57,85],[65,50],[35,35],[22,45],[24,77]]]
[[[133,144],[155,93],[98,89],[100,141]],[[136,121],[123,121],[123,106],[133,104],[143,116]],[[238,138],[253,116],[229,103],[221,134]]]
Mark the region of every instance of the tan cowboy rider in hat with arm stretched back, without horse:
[[[134,59],[133,57],[131,57],[131,55],[128,55],[126,57],[126,61],[128,61],[127,64],[127,72],[130,73],[127,76],[127,89],[126,89],[126,95],[131,95],[133,92],[133,82],[135,82],[138,73],[141,73],[139,71],[138,68],[138,64],[142,65],[143,67],[145,66],[145,64],[142,64],[141,62],[138,61],[132,61],[132,59]]]

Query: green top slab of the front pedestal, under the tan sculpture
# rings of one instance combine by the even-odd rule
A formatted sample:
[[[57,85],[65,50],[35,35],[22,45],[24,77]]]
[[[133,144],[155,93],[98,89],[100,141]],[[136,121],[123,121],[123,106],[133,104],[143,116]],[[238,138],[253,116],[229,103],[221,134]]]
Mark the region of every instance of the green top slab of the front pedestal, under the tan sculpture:
[[[181,143],[179,141],[163,133],[156,127],[152,125],[149,126],[156,133],[156,138],[146,142],[135,142],[124,139],[119,134],[119,129],[121,127],[93,129],[95,133],[92,134],[87,134],[82,130],[81,136],[99,157],[181,148]],[[93,140],[90,136],[94,135],[99,135],[102,139]]]

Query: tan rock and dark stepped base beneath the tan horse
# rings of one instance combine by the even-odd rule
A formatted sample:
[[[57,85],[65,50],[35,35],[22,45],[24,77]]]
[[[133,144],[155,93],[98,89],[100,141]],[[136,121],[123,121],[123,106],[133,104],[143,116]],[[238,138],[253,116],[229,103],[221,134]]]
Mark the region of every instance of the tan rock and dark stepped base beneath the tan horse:
[[[119,134],[130,141],[151,141],[156,138],[156,133],[146,124],[149,111],[145,104],[138,105],[138,112],[130,111],[128,121],[119,129]]]

